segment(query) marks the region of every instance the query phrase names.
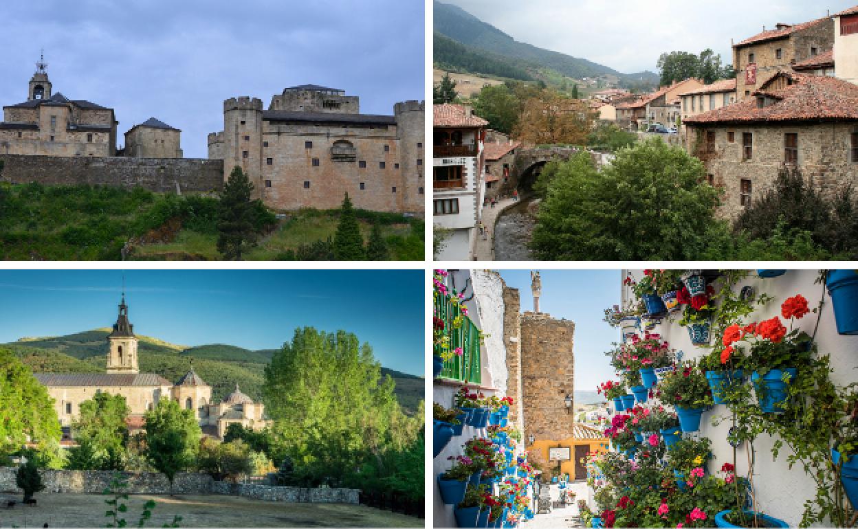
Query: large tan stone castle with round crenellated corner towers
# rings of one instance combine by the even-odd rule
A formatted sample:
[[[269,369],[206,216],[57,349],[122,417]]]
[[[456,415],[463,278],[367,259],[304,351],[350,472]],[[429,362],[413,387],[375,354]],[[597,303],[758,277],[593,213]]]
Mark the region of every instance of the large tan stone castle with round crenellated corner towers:
[[[424,104],[397,103],[393,116],[360,113],[360,100],[316,85],[223,105],[224,129],[208,135],[208,158],[239,166],[266,206],[424,210]]]

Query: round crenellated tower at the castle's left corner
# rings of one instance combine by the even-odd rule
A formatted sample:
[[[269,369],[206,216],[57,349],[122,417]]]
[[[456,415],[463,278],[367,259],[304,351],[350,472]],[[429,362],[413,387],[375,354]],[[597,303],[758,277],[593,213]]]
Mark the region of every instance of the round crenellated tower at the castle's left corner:
[[[253,184],[254,198],[262,197],[263,101],[239,97],[223,102],[223,178],[236,166]]]

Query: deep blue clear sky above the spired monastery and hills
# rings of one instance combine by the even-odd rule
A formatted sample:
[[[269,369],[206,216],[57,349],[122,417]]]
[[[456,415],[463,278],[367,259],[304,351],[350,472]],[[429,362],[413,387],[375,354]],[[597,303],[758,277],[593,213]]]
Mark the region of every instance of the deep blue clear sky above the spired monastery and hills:
[[[423,375],[422,270],[129,270],[135,333],[183,346],[275,349],[295,328],[344,329],[384,367]],[[0,271],[0,343],[110,327],[121,270]]]

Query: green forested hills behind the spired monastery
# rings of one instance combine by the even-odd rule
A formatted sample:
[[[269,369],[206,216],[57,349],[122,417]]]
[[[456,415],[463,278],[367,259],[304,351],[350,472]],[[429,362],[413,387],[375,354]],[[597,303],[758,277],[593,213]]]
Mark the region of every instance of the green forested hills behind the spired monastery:
[[[98,328],[66,336],[22,338],[0,344],[16,353],[36,373],[97,373],[106,367],[109,328]],[[221,400],[235,389],[253,400],[262,399],[265,365],[275,349],[251,351],[224,344],[178,346],[164,340],[137,335],[141,372],[157,373],[170,382],[194,370],[212,387],[212,400]],[[396,397],[405,412],[414,413],[423,400],[423,377],[382,367],[382,376],[396,382]]]

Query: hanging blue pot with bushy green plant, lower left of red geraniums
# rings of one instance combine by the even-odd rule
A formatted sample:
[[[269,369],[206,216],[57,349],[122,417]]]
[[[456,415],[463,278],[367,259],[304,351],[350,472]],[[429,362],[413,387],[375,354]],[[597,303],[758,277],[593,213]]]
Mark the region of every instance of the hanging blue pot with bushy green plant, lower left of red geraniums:
[[[700,417],[712,405],[712,394],[706,377],[693,361],[686,361],[658,383],[662,402],[673,405],[684,432],[700,429]]]

